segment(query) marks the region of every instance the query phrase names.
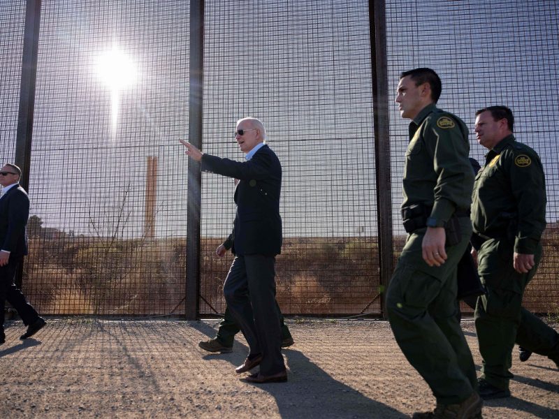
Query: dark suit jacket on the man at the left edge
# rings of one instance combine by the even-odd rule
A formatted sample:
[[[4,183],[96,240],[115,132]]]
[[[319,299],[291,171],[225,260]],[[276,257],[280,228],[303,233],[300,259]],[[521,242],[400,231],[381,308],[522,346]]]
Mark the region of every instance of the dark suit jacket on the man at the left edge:
[[[29,197],[20,186],[12,186],[0,199],[0,250],[10,257],[27,255]]]

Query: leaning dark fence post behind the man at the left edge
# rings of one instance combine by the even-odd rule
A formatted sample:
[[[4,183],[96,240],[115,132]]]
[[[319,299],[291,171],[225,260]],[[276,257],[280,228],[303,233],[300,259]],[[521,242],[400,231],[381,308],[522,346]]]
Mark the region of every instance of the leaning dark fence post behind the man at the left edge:
[[[20,109],[17,115],[14,159],[14,163],[22,169],[20,185],[26,191],[29,191],[29,171],[31,168],[31,136],[33,134],[40,22],[41,0],[27,0],[23,35]],[[22,278],[23,263],[20,263],[15,274],[15,284],[19,288],[22,286]]]

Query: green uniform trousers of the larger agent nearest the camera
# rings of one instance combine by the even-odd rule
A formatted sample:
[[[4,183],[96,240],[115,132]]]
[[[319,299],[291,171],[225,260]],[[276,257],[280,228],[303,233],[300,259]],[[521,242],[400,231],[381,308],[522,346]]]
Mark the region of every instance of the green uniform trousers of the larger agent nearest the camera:
[[[426,229],[409,235],[386,295],[395,339],[440,404],[463,402],[477,389],[474,360],[457,317],[456,265],[472,228],[467,217],[460,225],[462,240],[446,248],[448,258],[440,267],[429,267],[421,256]]]

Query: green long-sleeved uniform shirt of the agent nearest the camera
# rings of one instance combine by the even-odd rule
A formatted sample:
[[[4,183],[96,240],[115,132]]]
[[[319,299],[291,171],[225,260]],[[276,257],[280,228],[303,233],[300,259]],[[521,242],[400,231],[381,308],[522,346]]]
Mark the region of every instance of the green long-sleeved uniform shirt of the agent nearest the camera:
[[[409,124],[402,207],[433,206],[430,216],[437,220],[437,226],[456,210],[470,207],[474,175],[467,134],[460,118],[434,103],[419,112]]]

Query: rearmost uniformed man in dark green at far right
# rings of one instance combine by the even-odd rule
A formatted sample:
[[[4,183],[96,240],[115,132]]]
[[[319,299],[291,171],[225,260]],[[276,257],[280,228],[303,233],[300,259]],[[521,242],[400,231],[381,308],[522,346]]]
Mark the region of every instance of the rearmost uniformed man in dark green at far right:
[[[484,399],[510,396],[515,340],[559,367],[558,333],[521,306],[542,258],[546,187],[539,156],[516,142],[513,124],[514,116],[504,106],[476,112],[477,140],[489,150],[472,196],[472,242],[488,291],[479,297],[474,315],[484,358],[479,378]]]

